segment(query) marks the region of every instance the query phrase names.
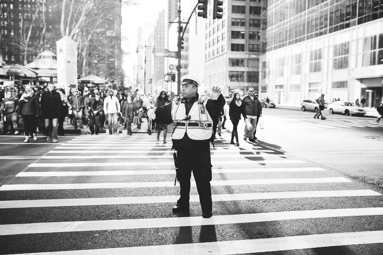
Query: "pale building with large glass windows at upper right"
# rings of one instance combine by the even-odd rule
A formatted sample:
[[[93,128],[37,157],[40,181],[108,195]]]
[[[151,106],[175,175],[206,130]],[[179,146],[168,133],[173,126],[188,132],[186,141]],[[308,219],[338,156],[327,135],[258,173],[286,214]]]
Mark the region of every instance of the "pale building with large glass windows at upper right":
[[[268,0],[261,97],[382,100],[383,0]]]

